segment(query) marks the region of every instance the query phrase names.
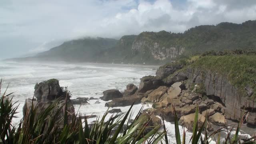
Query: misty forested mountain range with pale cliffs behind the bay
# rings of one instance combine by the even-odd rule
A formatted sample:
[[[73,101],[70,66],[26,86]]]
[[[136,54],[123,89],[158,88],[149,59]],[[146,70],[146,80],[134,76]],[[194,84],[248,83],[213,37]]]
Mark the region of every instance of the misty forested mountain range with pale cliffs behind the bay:
[[[81,62],[166,63],[210,50],[256,50],[256,20],[196,26],[184,33],[142,32],[138,36],[84,38],[64,42],[38,58]]]

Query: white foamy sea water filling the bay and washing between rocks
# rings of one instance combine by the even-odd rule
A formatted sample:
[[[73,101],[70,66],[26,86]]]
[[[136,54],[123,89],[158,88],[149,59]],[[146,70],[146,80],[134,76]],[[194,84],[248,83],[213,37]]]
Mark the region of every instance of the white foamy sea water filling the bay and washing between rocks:
[[[12,94],[13,100],[18,101],[18,118],[14,122],[19,122],[22,118],[22,107],[26,98],[32,98],[34,86],[37,82],[42,82],[51,78],[60,80],[60,86],[68,87],[72,94],[72,99],[77,97],[100,98],[102,92],[108,89],[119,89],[124,91],[127,84],[139,86],[140,78],[147,75],[155,75],[158,66],[132,65],[132,64],[98,64],[98,63],[67,63],[67,62],[0,62],[0,77],[3,78],[4,88],[9,84],[7,94]],[[4,91],[2,89],[2,92]],[[105,101],[90,100],[88,104],[74,105],[76,112],[84,115],[95,114],[102,117],[106,112]],[[142,107],[142,104],[133,106],[134,117]],[[145,105],[144,108],[150,108]],[[130,106],[115,107],[122,112],[127,112]],[[111,108],[110,108],[111,109]],[[110,116],[110,115],[109,115]],[[93,122],[96,118],[88,119]],[[176,143],[174,124],[166,122],[168,139],[170,143]],[[185,129],[186,130],[186,129]],[[180,126],[180,134],[183,128]],[[186,140],[190,140],[192,134],[186,132]],[[182,137],[181,137],[182,138]]]

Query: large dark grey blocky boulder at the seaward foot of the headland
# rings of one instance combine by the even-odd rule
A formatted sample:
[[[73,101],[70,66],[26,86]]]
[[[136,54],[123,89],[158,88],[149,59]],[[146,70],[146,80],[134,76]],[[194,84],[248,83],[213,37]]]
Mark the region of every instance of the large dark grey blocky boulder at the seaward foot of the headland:
[[[153,90],[162,86],[163,82],[156,76],[144,76],[140,79],[139,93],[145,93],[148,90]]]

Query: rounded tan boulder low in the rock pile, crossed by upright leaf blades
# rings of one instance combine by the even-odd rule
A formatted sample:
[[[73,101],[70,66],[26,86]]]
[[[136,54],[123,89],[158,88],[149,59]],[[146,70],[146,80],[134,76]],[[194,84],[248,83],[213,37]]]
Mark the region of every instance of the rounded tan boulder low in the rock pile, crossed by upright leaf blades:
[[[193,130],[193,126],[194,126],[194,118],[195,118],[195,114],[188,114],[186,116],[182,116],[179,120],[179,123],[181,126],[184,126],[186,128],[188,128],[188,130]],[[202,114],[198,114],[198,128],[201,128],[202,124],[205,121],[205,117]],[[207,122],[207,130],[212,131],[212,125]]]

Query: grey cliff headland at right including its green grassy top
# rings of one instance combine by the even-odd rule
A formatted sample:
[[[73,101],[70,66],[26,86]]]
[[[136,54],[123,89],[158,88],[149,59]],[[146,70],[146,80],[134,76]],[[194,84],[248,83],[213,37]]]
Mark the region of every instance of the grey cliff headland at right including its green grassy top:
[[[256,125],[254,63],[255,55],[206,56],[183,68],[180,64],[162,66],[156,75],[167,86],[184,81],[193,90],[197,85],[200,92],[224,104],[226,118],[239,121],[246,114],[246,122]]]

